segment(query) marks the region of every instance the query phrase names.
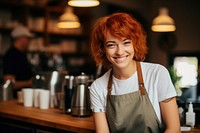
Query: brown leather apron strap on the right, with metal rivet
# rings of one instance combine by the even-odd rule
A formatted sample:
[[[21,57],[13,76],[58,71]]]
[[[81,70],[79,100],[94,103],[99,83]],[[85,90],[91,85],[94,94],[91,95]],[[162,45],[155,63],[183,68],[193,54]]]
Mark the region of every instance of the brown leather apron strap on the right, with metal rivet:
[[[139,89],[140,89],[141,94],[145,95],[144,81],[143,81],[142,69],[141,69],[140,62],[137,61],[136,66],[137,66]]]

